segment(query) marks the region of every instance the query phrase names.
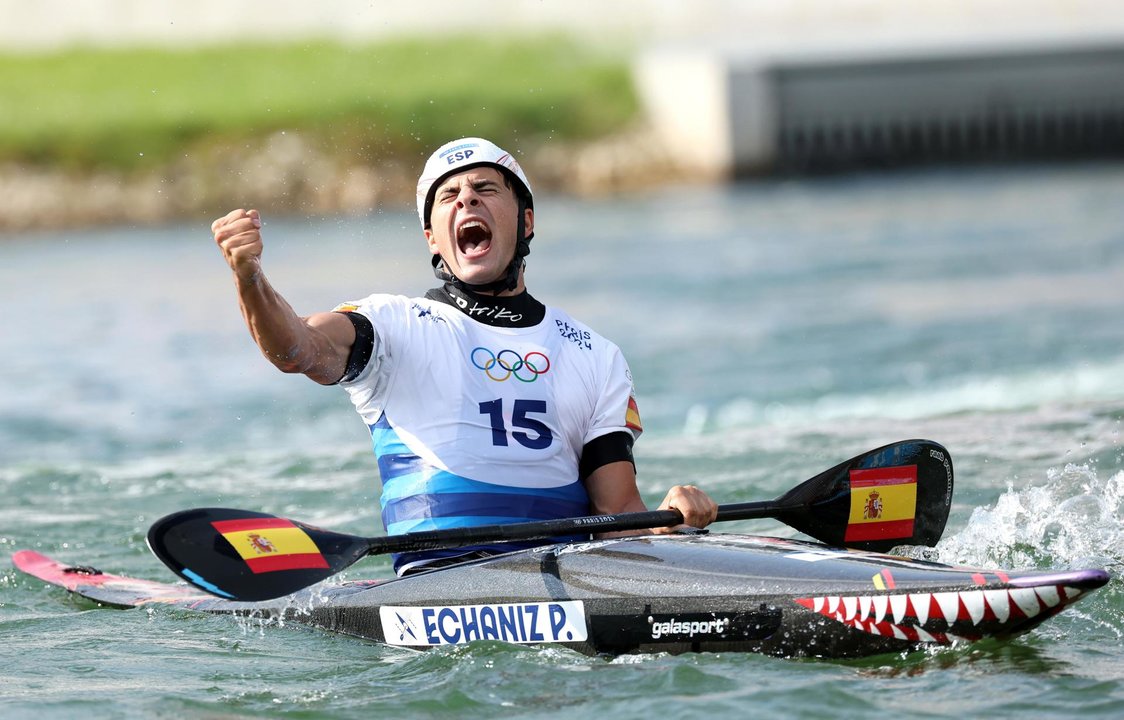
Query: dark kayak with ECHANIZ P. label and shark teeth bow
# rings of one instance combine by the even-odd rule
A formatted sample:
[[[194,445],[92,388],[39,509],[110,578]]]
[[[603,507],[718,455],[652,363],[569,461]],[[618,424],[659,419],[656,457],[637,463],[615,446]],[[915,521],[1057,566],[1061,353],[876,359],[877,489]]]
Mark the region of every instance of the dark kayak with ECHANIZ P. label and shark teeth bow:
[[[845,658],[1018,636],[1104,586],[1104,569],[998,571],[755,535],[549,545],[266,601],[67,566],[17,568],[103,605],[283,619],[416,649],[490,640],[587,655]]]

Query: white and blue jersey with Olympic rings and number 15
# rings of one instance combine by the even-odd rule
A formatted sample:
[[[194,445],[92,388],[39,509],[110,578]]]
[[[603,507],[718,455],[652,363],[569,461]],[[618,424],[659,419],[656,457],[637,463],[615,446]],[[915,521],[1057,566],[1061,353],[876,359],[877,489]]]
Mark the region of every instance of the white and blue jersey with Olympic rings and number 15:
[[[582,447],[640,435],[619,348],[561,310],[528,328],[401,295],[336,310],[374,329],[341,385],[371,428],[391,535],[588,514]]]

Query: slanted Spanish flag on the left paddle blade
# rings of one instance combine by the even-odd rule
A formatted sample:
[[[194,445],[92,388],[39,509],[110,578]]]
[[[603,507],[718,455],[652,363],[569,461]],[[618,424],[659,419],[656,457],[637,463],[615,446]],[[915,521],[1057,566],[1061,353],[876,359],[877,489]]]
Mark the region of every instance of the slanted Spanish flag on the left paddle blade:
[[[328,567],[328,562],[324,559],[312,538],[291,520],[246,518],[217,520],[211,526],[226,538],[255,574]]]

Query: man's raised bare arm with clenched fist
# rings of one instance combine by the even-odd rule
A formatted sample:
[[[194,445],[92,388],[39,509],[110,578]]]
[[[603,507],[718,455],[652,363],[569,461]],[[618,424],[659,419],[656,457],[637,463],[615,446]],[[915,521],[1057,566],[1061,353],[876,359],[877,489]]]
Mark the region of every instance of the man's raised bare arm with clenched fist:
[[[300,317],[262,271],[262,220],[233,210],[211,224],[215,243],[234,272],[238,304],[262,354],[287,373],[329,385],[339,380],[355,343],[355,327],[338,312]]]

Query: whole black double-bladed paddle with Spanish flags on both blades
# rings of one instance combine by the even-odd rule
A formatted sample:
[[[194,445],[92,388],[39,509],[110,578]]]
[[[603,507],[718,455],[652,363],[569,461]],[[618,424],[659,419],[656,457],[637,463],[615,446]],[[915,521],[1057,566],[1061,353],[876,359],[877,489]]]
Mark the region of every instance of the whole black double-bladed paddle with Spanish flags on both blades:
[[[935,545],[952,502],[952,461],[931,440],[863,453],[770,502],[718,508],[718,520],[776,518],[834,546],[887,552]],[[264,512],[201,508],[161,518],[148,547],[180,577],[234,600],[270,600],[312,585],[365,555],[670,527],[677,510],[565,518],[390,537],[323,530]]]

